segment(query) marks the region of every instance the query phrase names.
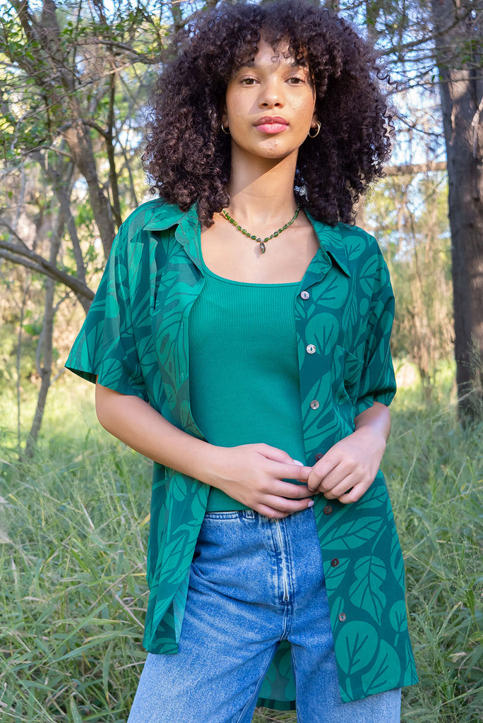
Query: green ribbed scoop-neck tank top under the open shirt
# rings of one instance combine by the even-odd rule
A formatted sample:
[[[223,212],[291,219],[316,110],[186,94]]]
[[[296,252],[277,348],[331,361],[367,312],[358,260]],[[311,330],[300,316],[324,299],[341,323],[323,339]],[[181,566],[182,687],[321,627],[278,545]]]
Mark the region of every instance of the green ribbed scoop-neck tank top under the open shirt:
[[[242,283],[206,267],[204,273],[189,314],[197,426],[211,444],[265,442],[305,463],[294,317],[299,283]],[[246,509],[210,489],[208,511]]]

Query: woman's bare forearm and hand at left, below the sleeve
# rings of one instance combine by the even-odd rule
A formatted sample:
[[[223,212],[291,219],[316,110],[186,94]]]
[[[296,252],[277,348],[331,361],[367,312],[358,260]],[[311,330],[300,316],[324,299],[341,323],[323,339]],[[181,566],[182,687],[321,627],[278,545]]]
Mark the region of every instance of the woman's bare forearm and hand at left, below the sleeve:
[[[104,429],[146,457],[226,492],[262,515],[283,518],[307,508],[311,468],[265,444],[218,447],[183,432],[139,397],[95,386],[95,411]],[[286,498],[289,499],[286,499]]]

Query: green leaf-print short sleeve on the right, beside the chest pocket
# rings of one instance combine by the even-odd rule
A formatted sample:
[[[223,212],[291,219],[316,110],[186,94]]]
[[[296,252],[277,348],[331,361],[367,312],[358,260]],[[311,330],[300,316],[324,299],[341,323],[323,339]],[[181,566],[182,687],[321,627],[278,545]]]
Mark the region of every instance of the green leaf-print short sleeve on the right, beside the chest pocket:
[[[394,294],[388,266],[378,247],[377,253],[379,264],[369,307],[364,365],[355,416],[371,407],[374,402],[389,406],[396,394],[396,377],[389,346],[394,321]]]

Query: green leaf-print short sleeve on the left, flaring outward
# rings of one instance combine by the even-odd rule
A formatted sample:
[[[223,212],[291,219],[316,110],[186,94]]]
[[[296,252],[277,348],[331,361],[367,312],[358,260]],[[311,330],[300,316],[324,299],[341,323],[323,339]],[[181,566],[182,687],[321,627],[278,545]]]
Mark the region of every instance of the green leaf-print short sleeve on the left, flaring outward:
[[[142,309],[139,299],[133,306],[130,293],[139,269],[139,260],[132,261],[134,246],[121,226],[66,367],[90,382],[97,377],[105,387],[147,400],[133,322]]]

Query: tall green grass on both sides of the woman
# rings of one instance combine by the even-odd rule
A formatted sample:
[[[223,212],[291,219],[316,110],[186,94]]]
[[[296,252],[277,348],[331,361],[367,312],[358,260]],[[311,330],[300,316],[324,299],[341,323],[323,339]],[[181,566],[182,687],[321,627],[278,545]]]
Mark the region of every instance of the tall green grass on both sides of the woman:
[[[443,386],[443,390],[445,390]],[[446,394],[447,390],[445,390]],[[403,723],[483,720],[483,426],[398,393],[384,459],[421,682]],[[0,463],[0,719],[125,722],[145,657],[150,464],[95,423],[91,390],[53,390],[18,463],[7,395]],[[258,709],[254,723],[295,723]]]

